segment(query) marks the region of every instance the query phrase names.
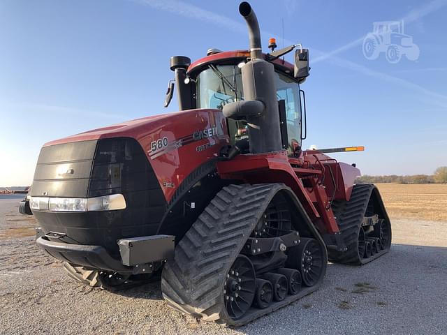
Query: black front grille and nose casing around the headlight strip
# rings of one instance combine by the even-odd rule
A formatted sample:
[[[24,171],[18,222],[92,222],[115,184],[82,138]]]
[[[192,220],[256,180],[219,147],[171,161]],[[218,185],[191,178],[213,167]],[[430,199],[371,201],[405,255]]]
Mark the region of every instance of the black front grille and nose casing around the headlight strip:
[[[39,189],[50,190],[52,183],[56,182],[73,182],[69,185],[60,184],[60,188],[54,187],[57,193],[49,193],[48,196],[91,198],[121,193],[126,200],[126,209],[85,213],[34,211],[34,216],[45,233],[61,232],[66,234],[66,240],[70,241],[68,243],[104,246],[110,253],[118,255],[117,239],[156,234],[167,204],[156,174],[136,140],[119,137],[92,142],[93,147],[89,147],[89,150],[85,150],[82,155],[73,156],[75,160],[69,156],[70,152],[73,153],[70,147],[68,154],[59,153],[55,156],[51,153],[52,149],[64,151],[64,147],[44,148],[44,155],[42,149],[42,157],[50,155],[52,158],[39,157],[39,164],[45,164],[45,169],[36,172],[36,175],[51,174],[51,166],[62,161],[90,161],[91,168],[86,168],[87,175],[82,174],[82,179],[66,177],[55,181],[41,181],[43,184]],[[92,144],[89,141],[77,142],[75,147],[82,148],[82,145]],[[80,173],[77,169],[73,168],[75,174]],[[35,185],[36,180],[32,187],[33,192],[36,191]]]

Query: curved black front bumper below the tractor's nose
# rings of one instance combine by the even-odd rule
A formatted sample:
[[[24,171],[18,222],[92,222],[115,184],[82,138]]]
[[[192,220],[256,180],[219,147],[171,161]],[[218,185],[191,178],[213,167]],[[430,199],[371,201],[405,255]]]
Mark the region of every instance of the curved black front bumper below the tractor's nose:
[[[46,237],[38,237],[36,243],[52,257],[63,262],[69,262],[91,269],[117,271],[121,274],[131,274],[133,272],[132,267],[122,265],[120,260],[112,258],[102,246],[67,244],[64,242],[50,241]]]

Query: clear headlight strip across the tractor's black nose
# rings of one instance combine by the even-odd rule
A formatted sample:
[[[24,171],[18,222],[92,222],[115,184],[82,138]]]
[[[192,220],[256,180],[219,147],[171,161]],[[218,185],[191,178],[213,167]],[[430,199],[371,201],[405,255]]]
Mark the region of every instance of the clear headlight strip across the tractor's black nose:
[[[114,211],[126,209],[122,194],[104,195],[96,198],[47,198],[30,197],[31,209],[41,211]]]

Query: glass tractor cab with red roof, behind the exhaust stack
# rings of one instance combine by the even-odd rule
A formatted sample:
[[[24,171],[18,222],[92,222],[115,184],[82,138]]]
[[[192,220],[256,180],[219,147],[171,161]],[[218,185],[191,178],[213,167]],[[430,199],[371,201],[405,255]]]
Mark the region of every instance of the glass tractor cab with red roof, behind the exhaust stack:
[[[299,51],[302,50],[297,50]],[[171,69],[176,72],[179,108],[223,110],[225,105],[244,101],[242,67],[249,57],[247,50],[221,52],[216,49],[208,50],[207,57],[190,65],[186,57],[172,57]],[[272,57],[271,54],[263,54],[263,57],[274,65],[282,148],[287,149],[289,156],[293,156],[300,150],[302,139],[305,138],[305,95],[300,90],[300,83],[305,81],[309,72],[303,77],[295,77],[293,64],[279,57]],[[178,70],[182,75],[177,73]],[[170,87],[168,94],[172,94],[172,91],[173,88]],[[166,101],[168,100],[170,98]],[[230,144],[248,143],[249,127],[254,126],[253,124],[246,119],[230,118],[227,119],[227,124]],[[248,151],[248,148],[242,151]]]

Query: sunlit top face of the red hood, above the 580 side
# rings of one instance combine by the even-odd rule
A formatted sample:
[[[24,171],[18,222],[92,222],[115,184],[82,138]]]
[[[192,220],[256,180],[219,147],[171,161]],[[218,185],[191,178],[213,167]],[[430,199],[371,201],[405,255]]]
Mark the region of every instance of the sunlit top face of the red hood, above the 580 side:
[[[114,124],[112,126],[96,128],[91,131],[85,131],[84,133],[47,142],[43,144],[43,147],[48,147],[54,144],[99,140],[100,138],[110,137],[133,137],[135,140],[140,140],[142,137],[163,127],[166,125],[166,122],[171,121],[173,118],[179,117],[185,113],[190,113],[191,111],[192,110],[184,110],[181,112],[154,115],[152,117],[142,117],[140,119],[125,121],[120,124]]]

